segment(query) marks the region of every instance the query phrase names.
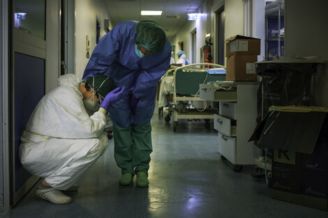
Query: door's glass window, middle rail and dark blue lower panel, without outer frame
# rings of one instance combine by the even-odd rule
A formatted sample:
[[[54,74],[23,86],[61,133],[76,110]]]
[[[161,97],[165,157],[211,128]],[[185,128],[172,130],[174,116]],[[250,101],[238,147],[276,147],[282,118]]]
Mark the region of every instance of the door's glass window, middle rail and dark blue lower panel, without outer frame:
[[[24,196],[38,180],[31,176],[20,163],[20,137],[27,125],[34,107],[45,95],[45,0],[15,0],[13,1],[13,47],[11,108],[13,141],[12,189],[13,201]],[[28,91],[28,92],[27,92]]]

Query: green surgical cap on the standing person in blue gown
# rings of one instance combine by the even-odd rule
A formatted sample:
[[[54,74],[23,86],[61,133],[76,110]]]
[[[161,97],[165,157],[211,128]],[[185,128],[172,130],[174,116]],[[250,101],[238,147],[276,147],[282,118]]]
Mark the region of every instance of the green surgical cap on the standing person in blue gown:
[[[156,53],[165,45],[165,32],[156,22],[144,20],[137,23],[135,27],[137,39],[135,44],[144,47],[148,52]]]

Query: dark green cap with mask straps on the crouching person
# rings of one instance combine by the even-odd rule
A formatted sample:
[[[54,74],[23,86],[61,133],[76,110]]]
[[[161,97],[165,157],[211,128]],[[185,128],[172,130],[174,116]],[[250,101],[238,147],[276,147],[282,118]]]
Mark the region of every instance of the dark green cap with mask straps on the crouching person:
[[[110,77],[104,75],[96,75],[87,78],[87,84],[92,88],[101,98],[105,98],[107,93],[116,88],[114,81]]]

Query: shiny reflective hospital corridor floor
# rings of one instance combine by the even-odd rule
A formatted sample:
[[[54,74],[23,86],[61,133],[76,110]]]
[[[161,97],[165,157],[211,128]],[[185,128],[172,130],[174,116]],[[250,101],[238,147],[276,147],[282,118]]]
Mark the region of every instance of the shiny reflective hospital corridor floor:
[[[4,217],[328,217],[328,212],[277,201],[264,180],[251,177],[253,167],[232,171],[218,154],[218,133],[203,121],[171,123],[154,114],[153,147],[147,188],[119,186],[113,141],[80,180],[73,203],[53,205],[35,195],[35,187]]]

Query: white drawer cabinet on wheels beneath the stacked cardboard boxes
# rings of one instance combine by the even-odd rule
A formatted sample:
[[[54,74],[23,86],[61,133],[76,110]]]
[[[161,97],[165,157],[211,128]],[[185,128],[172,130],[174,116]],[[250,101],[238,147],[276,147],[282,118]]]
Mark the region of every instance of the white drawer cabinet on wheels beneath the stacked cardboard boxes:
[[[233,86],[236,97],[225,98],[224,88],[217,88],[215,84],[200,84],[200,98],[219,102],[219,114],[214,114],[214,129],[218,130],[218,152],[223,159],[234,164],[235,171],[240,171],[242,165],[255,164],[255,158],[260,155],[260,149],[253,141],[248,142],[256,125],[258,82],[230,82],[221,85]],[[209,90],[214,93],[209,94]],[[202,95],[202,91],[207,93]],[[231,93],[228,95],[232,96]]]

